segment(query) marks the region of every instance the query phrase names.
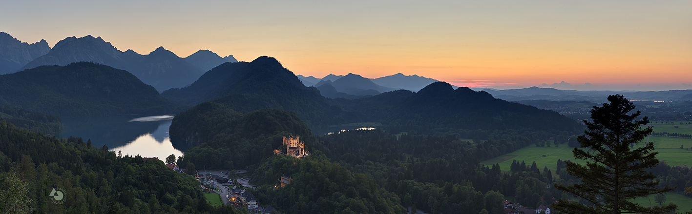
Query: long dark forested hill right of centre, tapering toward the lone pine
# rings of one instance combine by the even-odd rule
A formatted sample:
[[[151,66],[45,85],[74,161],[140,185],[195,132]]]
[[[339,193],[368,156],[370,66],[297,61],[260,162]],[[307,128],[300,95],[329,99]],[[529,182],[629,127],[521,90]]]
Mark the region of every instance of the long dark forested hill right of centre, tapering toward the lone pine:
[[[567,131],[581,126],[554,111],[516,104],[470,88],[456,90],[435,82],[418,93],[397,90],[365,99],[337,99],[347,110],[366,113],[369,121],[390,126],[428,128],[522,129]]]

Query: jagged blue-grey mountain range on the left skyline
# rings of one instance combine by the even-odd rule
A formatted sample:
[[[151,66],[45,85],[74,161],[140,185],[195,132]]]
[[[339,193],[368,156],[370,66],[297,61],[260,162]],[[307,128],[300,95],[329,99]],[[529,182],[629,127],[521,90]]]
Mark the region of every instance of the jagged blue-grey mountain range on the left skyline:
[[[21,43],[0,33],[0,72],[10,73],[38,66],[65,66],[78,61],[91,61],[127,70],[159,92],[192,84],[204,72],[226,62],[237,62],[230,55],[219,57],[209,50],[199,50],[181,58],[163,47],[140,55],[134,50],[122,52],[101,37],[67,37],[48,47],[45,40],[34,44]]]

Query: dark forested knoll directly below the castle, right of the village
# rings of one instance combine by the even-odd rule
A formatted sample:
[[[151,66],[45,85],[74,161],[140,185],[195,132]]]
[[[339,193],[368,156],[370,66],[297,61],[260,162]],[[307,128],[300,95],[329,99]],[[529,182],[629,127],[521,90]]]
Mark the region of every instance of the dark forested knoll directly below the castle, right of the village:
[[[276,188],[286,175],[291,184]],[[313,153],[304,159],[275,155],[253,171],[253,182],[264,184],[254,193],[284,213],[405,213],[397,195],[372,179]]]

